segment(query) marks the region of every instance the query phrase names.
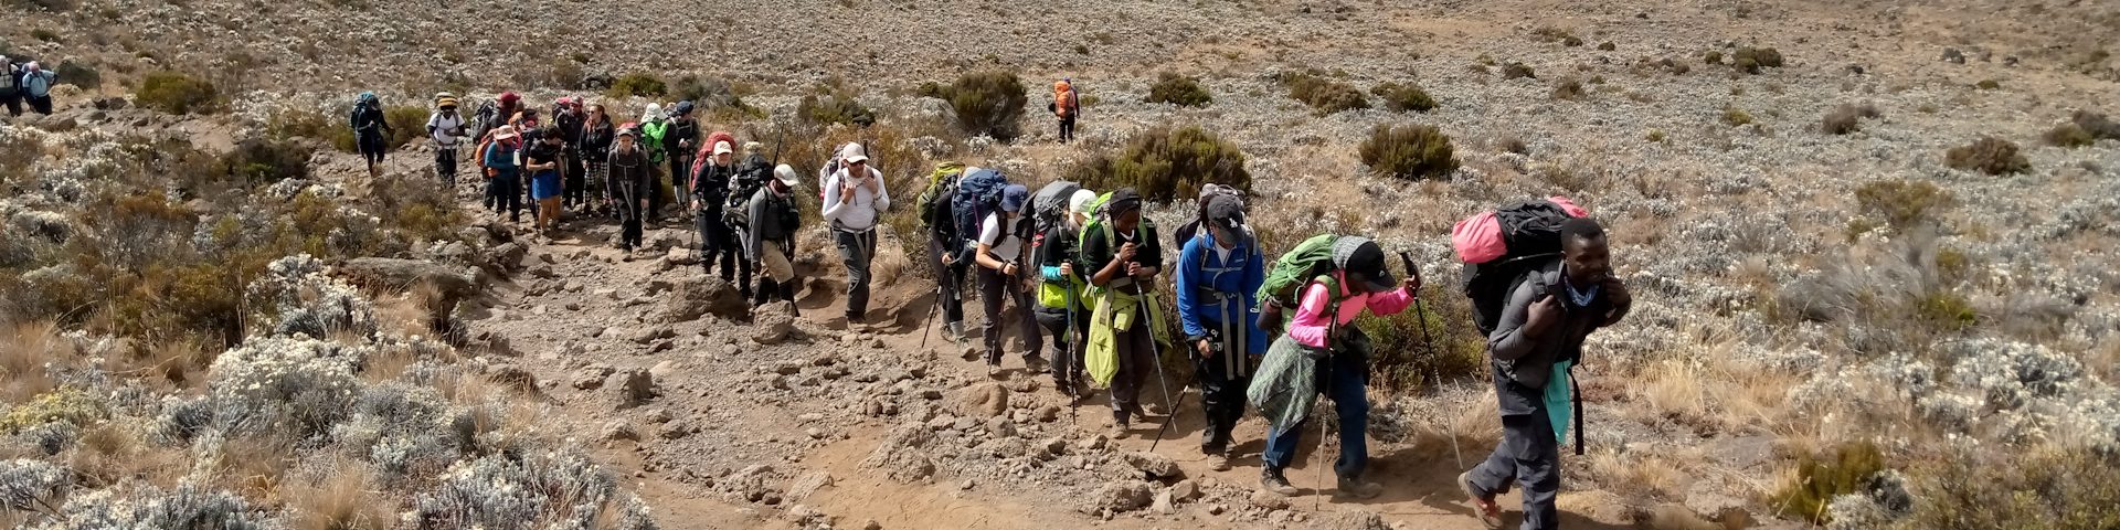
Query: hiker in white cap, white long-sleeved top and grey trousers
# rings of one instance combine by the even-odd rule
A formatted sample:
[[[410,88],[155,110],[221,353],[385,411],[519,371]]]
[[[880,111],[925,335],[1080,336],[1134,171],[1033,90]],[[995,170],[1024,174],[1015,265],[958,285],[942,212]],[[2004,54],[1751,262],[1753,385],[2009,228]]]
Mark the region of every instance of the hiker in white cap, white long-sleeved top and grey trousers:
[[[825,223],[846,263],[846,326],[861,324],[869,314],[869,261],[876,259],[876,225],[890,210],[884,172],[869,167],[861,144],[846,144],[846,167],[825,182]]]

